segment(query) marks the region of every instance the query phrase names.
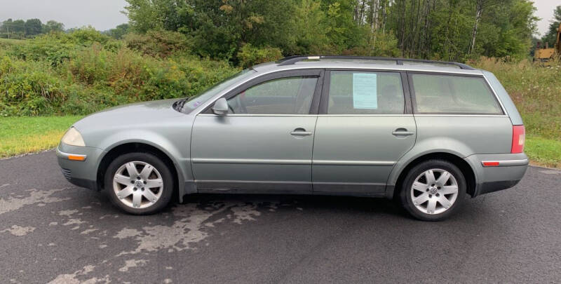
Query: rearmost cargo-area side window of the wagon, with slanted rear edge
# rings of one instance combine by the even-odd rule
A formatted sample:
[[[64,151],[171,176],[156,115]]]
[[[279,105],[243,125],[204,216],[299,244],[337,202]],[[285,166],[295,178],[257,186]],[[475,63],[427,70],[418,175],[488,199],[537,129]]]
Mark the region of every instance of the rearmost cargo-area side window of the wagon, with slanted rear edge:
[[[503,114],[481,77],[410,74],[416,114]]]

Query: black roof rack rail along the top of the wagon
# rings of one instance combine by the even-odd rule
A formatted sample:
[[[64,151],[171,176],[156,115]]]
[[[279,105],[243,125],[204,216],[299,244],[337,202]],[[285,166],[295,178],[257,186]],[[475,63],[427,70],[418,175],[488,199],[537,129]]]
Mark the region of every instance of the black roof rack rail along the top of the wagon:
[[[294,55],[277,61],[278,66],[293,65],[302,60],[320,60],[320,59],[358,59],[358,60],[396,60],[397,65],[403,65],[403,62],[420,62],[433,64],[449,64],[456,65],[461,69],[475,70],[475,68],[459,62],[447,62],[438,60],[410,59],[410,58],[384,58],[379,56],[346,56],[346,55]]]

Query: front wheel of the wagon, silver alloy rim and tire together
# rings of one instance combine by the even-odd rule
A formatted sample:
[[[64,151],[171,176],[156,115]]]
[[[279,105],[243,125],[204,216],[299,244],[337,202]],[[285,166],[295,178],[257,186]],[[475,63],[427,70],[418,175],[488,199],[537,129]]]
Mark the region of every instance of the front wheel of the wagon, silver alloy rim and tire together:
[[[173,175],[157,156],[130,153],[117,157],[105,174],[111,202],[126,212],[147,215],[165,208],[173,194]]]

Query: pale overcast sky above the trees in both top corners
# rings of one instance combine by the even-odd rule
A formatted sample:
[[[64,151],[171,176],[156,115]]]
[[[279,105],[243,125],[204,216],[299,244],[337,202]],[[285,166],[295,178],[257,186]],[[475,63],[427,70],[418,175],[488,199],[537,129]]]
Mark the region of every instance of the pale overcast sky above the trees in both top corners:
[[[541,18],[541,35],[547,31],[557,5],[561,5],[561,0],[534,0],[536,15]],[[104,31],[127,22],[126,15],[121,13],[125,6],[125,0],[0,0],[0,21],[39,18],[42,22],[62,22],[67,29],[92,25]]]

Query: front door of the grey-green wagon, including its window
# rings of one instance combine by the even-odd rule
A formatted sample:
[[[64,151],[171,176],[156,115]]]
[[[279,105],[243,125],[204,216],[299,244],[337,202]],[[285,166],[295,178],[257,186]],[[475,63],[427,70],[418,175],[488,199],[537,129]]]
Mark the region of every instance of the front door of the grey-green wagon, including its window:
[[[224,95],[227,115],[198,114],[191,138],[198,190],[310,192],[320,74],[263,76]]]

